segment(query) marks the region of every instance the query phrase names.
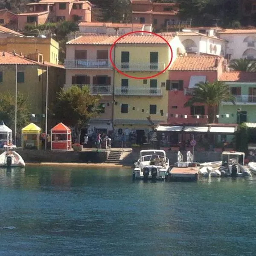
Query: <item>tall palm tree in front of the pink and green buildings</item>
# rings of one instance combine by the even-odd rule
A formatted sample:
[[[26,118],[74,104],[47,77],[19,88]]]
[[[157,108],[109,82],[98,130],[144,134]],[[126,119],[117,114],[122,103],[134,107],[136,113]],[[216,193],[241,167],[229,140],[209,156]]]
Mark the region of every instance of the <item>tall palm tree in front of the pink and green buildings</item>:
[[[236,98],[230,93],[230,87],[227,84],[221,81],[201,82],[196,84],[193,96],[184,104],[184,107],[191,107],[196,103],[207,105],[208,122],[214,123],[218,105],[223,101],[236,105],[235,100]]]

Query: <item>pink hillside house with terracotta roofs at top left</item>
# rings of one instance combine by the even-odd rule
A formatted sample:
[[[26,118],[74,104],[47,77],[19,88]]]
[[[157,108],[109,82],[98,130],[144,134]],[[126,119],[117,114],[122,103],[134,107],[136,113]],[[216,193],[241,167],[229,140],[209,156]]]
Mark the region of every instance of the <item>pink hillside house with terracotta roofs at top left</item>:
[[[27,12],[18,15],[18,29],[26,24],[44,24],[61,20],[91,21],[92,4],[78,0],[41,0],[28,3]]]

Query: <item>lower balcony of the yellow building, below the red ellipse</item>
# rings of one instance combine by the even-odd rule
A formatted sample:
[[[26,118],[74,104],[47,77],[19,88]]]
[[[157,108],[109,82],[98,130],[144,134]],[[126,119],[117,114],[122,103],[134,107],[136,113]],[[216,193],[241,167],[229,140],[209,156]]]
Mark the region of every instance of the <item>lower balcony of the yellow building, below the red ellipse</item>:
[[[137,88],[131,89],[116,88],[115,95],[128,95],[128,96],[163,96],[162,89],[160,88]]]

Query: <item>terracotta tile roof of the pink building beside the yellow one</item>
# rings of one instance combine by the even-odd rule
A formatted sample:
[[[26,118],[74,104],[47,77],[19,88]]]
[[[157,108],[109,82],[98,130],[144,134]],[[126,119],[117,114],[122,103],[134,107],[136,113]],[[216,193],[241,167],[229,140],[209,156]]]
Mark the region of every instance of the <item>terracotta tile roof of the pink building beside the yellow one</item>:
[[[220,56],[187,56],[177,57],[170,70],[177,71],[215,71],[215,59],[218,63],[223,59]]]

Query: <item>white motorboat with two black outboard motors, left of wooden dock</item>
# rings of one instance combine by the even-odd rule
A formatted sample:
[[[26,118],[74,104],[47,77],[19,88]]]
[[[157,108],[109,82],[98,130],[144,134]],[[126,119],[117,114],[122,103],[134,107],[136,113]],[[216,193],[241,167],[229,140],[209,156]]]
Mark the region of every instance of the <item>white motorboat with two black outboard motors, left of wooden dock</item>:
[[[164,180],[169,170],[169,159],[164,150],[141,150],[140,158],[134,163],[134,179]]]

